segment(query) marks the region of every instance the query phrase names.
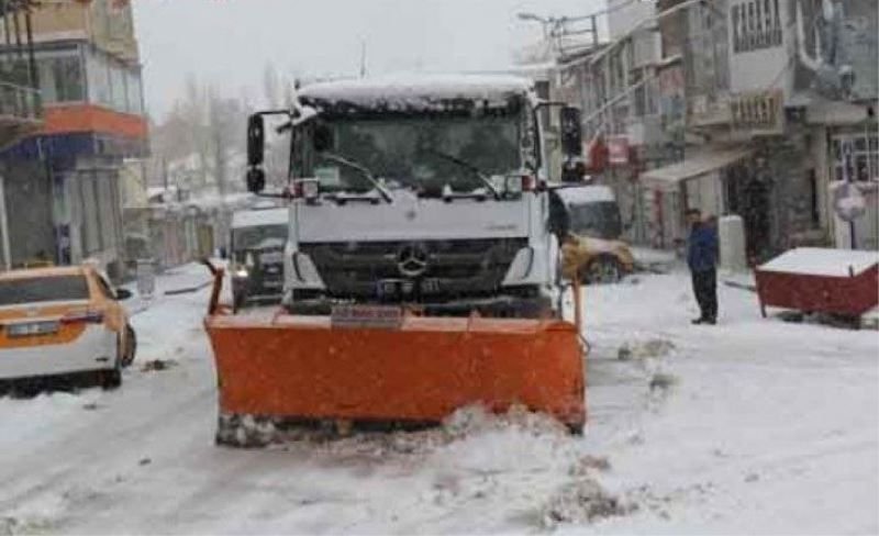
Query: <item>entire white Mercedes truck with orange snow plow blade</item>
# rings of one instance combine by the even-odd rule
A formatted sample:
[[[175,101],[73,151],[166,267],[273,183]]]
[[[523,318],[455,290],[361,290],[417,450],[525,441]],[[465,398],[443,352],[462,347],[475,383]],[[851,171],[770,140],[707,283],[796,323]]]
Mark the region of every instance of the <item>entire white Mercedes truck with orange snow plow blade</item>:
[[[251,116],[247,187],[289,203],[283,301],[233,314],[212,267],[218,443],[423,426],[470,404],[582,431],[579,294],[566,321],[565,231],[549,217],[561,186],[543,171],[539,112],[553,105],[524,79],[443,76],[314,83],[290,110]],[[291,144],[277,193],[263,156],[272,115]],[[568,123],[563,146],[579,148]]]

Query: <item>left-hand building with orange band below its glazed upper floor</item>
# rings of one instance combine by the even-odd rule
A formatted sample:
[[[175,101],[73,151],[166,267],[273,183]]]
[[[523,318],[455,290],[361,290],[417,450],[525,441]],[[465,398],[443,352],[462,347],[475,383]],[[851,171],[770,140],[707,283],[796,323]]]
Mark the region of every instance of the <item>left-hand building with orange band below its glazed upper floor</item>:
[[[0,153],[11,264],[93,258],[119,277],[121,183],[148,148],[131,5],[44,2],[32,22],[44,122]]]

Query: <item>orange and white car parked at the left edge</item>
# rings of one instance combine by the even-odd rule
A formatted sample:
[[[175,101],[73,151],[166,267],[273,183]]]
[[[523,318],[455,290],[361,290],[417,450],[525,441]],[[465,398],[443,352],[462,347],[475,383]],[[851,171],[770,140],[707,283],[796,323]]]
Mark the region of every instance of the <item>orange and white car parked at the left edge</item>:
[[[113,290],[91,265],[0,273],[0,382],[89,377],[122,383],[136,336]]]

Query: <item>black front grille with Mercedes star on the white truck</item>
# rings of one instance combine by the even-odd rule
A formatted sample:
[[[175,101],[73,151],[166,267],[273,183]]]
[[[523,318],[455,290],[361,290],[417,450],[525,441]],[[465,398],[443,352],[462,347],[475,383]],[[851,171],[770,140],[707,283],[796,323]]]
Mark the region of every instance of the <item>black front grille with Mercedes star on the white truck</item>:
[[[525,246],[526,238],[500,238],[308,244],[300,248],[311,257],[332,298],[436,301],[494,294],[516,253]],[[413,256],[423,263],[405,266]]]

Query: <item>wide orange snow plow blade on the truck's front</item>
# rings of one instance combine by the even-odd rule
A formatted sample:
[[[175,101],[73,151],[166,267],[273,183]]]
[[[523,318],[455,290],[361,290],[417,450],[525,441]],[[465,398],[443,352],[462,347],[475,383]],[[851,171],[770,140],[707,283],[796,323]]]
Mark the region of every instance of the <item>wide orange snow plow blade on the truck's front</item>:
[[[424,423],[477,403],[522,404],[576,431],[586,420],[582,351],[568,322],[403,315],[367,327],[212,309],[221,415]]]

